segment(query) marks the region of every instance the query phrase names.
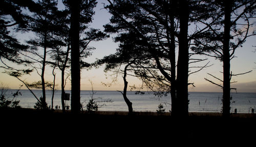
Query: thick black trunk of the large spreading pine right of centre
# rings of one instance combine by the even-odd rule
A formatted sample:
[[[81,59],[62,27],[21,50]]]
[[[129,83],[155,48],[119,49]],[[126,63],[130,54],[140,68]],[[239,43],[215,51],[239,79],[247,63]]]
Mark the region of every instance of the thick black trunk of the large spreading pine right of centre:
[[[188,115],[188,4],[186,0],[179,1],[180,34],[177,65],[177,100],[180,116]]]

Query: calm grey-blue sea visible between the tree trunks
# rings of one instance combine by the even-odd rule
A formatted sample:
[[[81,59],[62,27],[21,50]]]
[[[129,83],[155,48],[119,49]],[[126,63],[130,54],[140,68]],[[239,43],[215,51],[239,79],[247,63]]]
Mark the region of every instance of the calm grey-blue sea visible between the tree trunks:
[[[12,99],[11,94],[16,90],[8,90],[6,95],[9,95],[9,99]],[[35,95],[39,98],[41,90],[33,90]],[[15,99],[19,100],[19,105],[23,108],[34,108],[36,99],[29,92],[29,90],[20,90],[22,96],[18,96]],[[71,91],[66,91],[70,93]],[[81,91],[80,102],[83,105],[83,109],[86,109],[86,105],[92,98],[92,91]],[[251,113],[251,109],[256,110],[256,93],[231,93],[231,109],[230,112],[234,112],[237,109],[238,113]],[[51,105],[52,91],[46,91],[48,106]],[[70,96],[71,97],[71,96]],[[117,91],[94,91],[93,98],[98,101],[99,111],[128,111],[127,105],[123,100],[122,94]],[[136,95],[135,92],[127,92],[127,98],[133,103],[134,111],[151,111],[156,112],[158,105],[161,103],[165,112],[171,110],[170,95],[166,97],[157,97],[153,93],[145,92],[144,95]],[[214,92],[189,92],[188,95],[189,112],[221,112],[222,109],[222,93]],[[104,102],[111,100],[111,102]],[[66,101],[66,106],[70,106],[71,101]],[[56,90],[53,99],[53,106],[60,106],[61,108],[61,91]]]

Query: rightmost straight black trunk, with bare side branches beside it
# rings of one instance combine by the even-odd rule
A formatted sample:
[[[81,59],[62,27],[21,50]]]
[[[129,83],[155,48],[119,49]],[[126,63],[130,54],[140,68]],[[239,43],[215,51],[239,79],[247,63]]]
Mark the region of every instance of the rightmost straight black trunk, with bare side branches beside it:
[[[223,38],[223,116],[230,114],[230,15],[232,1],[224,1],[225,19],[224,19],[224,38]]]

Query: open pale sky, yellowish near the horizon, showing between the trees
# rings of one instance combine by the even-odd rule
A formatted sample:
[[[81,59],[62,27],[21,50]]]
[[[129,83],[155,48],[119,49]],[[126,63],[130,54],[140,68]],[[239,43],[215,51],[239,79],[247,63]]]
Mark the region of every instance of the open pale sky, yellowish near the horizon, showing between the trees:
[[[98,1],[97,7],[94,8],[95,15],[93,16],[93,22],[91,23],[91,27],[99,28],[103,31],[103,25],[110,22],[111,15],[103,9],[103,4],[106,1]],[[59,5],[59,8],[62,8],[63,5]],[[254,21],[255,22],[255,21]],[[255,24],[254,27],[255,29]],[[111,53],[115,53],[116,49],[118,48],[118,43],[113,41],[113,35],[110,38],[90,43],[90,46],[95,47],[96,49],[92,52],[92,56],[88,57],[85,61],[92,63],[96,60],[96,58],[102,58],[105,55],[109,55]],[[31,38],[31,34],[18,34],[16,35],[20,41],[28,40]],[[233,77],[231,81],[237,81],[236,83],[232,83],[231,87],[237,88],[237,92],[254,92],[256,93],[256,36],[250,37],[246,40],[243,44],[242,48],[238,48],[236,50],[235,55],[237,57],[231,60],[231,69],[233,74],[244,73],[247,71],[252,70],[252,72]],[[188,91],[190,92],[222,92],[221,88],[209,83],[204,78],[209,80],[213,80],[217,83],[214,78],[209,76],[207,73],[217,76],[218,78],[222,79],[222,63],[215,58],[201,56],[202,58],[208,58],[205,62],[207,63],[210,61],[210,64],[213,64],[211,67],[205,68],[202,71],[192,74],[189,76],[189,82],[194,83],[196,87],[189,86]],[[18,89],[19,85],[22,84],[18,81],[15,77],[11,77],[5,73],[3,73],[4,69],[0,69],[0,84],[4,84],[8,86],[10,89]],[[123,89],[123,80],[122,76],[118,76],[118,80],[112,84],[111,86],[105,86],[103,83],[111,83],[113,73],[104,73],[103,67],[98,69],[91,69],[91,70],[82,70],[81,71],[81,90],[91,90],[92,85],[90,81],[93,83],[94,90],[122,90]],[[60,90],[60,72],[56,71],[56,83],[57,89]],[[28,82],[39,80],[40,77],[36,73],[32,73],[31,75],[26,75],[22,77],[24,80]],[[51,74],[51,70],[46,71],[46,80],[52,81],[53,76]],[[135,77],[127,76],[127,81],[129,85],[137,85],[141,84],[141,81]],[[1,87],[1,85],[0,85]],[[25,89],[25,86],[22,87]],[[68,84],[66,86],[66,90],[71,90],[70,80],[68,80]],[[130,90],[130,89],[128,89]],[[146,89],[144,89],[146,90]],[[235,91],[233,91],[235,92]]]

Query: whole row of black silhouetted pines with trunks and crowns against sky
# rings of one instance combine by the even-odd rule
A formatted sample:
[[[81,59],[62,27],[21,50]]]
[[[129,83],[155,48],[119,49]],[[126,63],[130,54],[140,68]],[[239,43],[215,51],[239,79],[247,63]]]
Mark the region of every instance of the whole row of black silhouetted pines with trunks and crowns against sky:
[[[110,23],[104,32],[90,28],[97,1],[68,1],[58,10],[57,1],[31,0],[1,1],[0,27],[2,68],[16,77],[33,93],[32,88],[42,90],[42,97],[35,98],[41,108],[48,108],[45,90],[54,91],[55,69],[61,71],[61,102],[65,112],[65,85],[71,75],[71,110],[80,112],[80,71],[105,65],[105,72],[122,74],[123,98],[129,112],[132,102],[127,98],[126,76],[138,77],[141,87],[133,86],[139,93],[143,88],[162,96],[170,93],[172,116],[188,115],[188,82],[190,74],[210,66],[207,58],[215,57],[223,63],[223,78],[211,75],[222,82],[207,81],[223,89],[223,115],[230,114],[230,60],[246,38],[255,35],[249,28],[255,18],[255,1],[105,1],[104,9],[111,13]],[[93,27],[93,26],[92,26]],[[34,38],[20,43],[12,32],[33,32]],[[95,63],[83,61],[91,55],[92,41],[115,34],[119,43],[116,53]],[[23,65],[12,67],[8,63]],[[203,66],[201,62],[205,63]],[[199,66],[200,65],[200,66]],[[45,69],[52,69],[53,81],[45,81]],[[40,80],[26,82],[22,76],[35,71]],[[66,74],[68,73],[68,74]],[[70,74],[71,73],[71,74]],[[142,93],[142,92],[141,92]],[[54,93],[53,93],[54,96]],[[53,99],[53,97],[52,97]]]

